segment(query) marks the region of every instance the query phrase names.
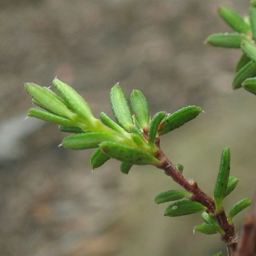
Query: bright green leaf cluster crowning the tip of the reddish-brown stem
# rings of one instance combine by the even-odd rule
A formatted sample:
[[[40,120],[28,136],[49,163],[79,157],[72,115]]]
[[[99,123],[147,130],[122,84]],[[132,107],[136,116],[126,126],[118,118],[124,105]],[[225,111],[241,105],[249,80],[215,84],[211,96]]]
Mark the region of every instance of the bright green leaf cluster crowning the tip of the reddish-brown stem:
[[[198,116],[202,109],[188,106],[167,114],[149,114],[148,101],[139,90],[130,95],[131,107],[123,89],[117,83],[110,91],[110,105],[114,121],[101,112],[95,118],[88,103],[68,84],[55,78],[52,82],[59,94],[49,87],[26,83],[32,102],[40,108],[28,110],[28,116],[59,124],[61,132],[74,133],[62,140],[60,146],[71,149],[96,148],[91,156],[92,169],[108,159],[121,161],[121,171],[128,173],[133,164],[161,166],[157,158],[159,137],[171,132]]]

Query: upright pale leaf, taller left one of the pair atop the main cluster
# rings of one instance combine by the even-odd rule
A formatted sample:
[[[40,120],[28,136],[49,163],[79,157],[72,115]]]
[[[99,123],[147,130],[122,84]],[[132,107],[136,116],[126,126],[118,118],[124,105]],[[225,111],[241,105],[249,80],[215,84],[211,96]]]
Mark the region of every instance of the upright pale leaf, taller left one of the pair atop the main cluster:
[[[110,104],[118,124],[120,124],[127,131],[130,131],[133,125],[132,114],[127,99],[124,95],[124,91],[119,84],[115,84],[111,88]]]

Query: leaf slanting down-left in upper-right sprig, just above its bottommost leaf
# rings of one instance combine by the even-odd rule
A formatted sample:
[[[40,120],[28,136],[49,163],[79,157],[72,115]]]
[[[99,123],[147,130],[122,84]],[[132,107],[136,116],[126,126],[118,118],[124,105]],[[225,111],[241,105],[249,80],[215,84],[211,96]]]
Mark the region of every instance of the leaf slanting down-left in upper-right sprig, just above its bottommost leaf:
[[[251,60],[236,73],[232,83],[233,89],[240,88],[245,79],[253,76],[256,76],[256,64]]]

